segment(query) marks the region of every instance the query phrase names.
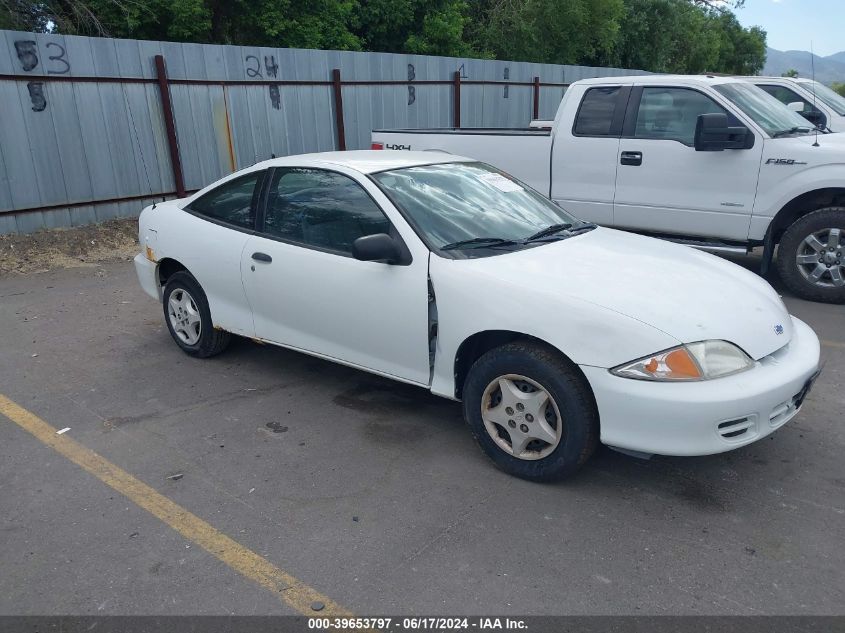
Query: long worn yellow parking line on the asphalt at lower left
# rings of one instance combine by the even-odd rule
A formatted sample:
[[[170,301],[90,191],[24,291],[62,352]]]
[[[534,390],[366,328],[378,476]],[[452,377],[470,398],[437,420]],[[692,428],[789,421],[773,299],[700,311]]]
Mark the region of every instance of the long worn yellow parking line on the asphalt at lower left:
[[[53,450],[61,453],[77,466],[131,499],[144,510],[160,519],[188,540],[196,543],[209,554],[229,567],[276,594],[291,608],[304,615],[320,617],[348,617],[349,611],[330,600],[316,589],[282,571],[252,550],[216,530],[195,514],[177,505],[150,486],[115,466],[94,451],[74,441],[67,434],[57,435],[56,429],[0,394],[0,414],[28,431]],[[314,602],[325,608],[319,613],[312,610]]]

